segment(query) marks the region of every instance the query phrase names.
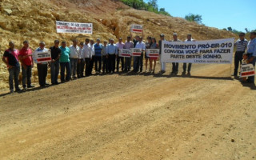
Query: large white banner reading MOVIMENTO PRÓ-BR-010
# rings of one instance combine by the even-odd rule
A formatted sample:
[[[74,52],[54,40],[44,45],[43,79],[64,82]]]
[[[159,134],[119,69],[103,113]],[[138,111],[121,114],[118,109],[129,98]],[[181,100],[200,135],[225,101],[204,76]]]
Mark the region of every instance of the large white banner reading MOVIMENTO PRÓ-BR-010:
[[[162,42],[162,62],[231,64],[234,38],[197,42]]]

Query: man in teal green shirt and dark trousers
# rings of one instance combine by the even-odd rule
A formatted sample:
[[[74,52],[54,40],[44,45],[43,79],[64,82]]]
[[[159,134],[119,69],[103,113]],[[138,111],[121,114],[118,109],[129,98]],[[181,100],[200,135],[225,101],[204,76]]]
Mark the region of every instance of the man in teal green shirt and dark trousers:
[[[62,42],[60,47],[62,50],[59,62],[61,65],[61,81],[65,82],[65,69],[66,69],[66,82],[70,81],[70,48],[66,47],[66,42]]]

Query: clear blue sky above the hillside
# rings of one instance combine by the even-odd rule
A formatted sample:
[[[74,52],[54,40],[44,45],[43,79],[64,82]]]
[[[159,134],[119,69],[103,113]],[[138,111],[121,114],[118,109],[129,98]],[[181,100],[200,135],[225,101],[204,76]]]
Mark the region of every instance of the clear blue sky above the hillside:
[[[174,17],[200,14],[203,24],[218,29],[256,30],[256,0],[158,0],[158,8]]]

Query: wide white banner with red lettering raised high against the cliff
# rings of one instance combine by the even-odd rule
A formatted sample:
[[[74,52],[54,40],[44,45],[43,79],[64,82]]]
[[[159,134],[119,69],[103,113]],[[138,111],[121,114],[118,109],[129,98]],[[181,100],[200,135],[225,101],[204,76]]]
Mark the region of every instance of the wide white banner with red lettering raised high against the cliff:
[[[57,33],[93,34],[92,23],[56,21]]]

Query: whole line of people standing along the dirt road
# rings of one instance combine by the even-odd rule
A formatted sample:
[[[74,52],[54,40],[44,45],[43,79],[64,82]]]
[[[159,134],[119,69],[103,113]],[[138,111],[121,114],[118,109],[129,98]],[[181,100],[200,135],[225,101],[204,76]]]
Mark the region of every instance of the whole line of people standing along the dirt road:
[[[250,33],[250,42],[248,43],[244,38],[245,34],[239,34],[240,38],[235,42],[237,46],[237,52],[234,58],[234,74],[238,74],[238,64],[242,62],[242,54],[245,53],[246,48],[248,54],[248,63],[255,65],[256,61],[256,33]],[[143,38],[135,36],[132,40],[131,36],[128,36],[126,42],[122,41],[122,38],[118,39],[118,42],[114,44],[114,39],[110,38],[109,42],[104,41],[101,43],[100,39],[94,40],[86,38],[85,42],[78,43],[78,40],[74,39],[73,44],[69,47],[66,46],[66,42],[60,42],[58,40],[54,41],[54,46],[50,49],[46,49],[45,42],[39,42],[39,47],[33,52],[30,49],[29,42],[24,41],[21,50],[16,50],[14,48],[14,42],[9,42],[9,49],[5,51],[2,57],[2,61],[6,63],[9,70],[9,85],[10,92],[15,90],[21,90],[18,86],[18,75],[20,73],[20,63],[22,66],[22,86],[23,89],[34,87],[31,85],[31,75],[34,62],[37,64],[38,69],[38,82],[40,86],[49,85],[46,83],[46,76],[48,72],[48,66],[50,66],[50,77],[51,84],[58,85],[58,74],[59,68],[61,70],[61,82],[69,82],[71,79],[83,78],[90,76],[92,74],[93,68],[95,68],[96,74],[113,74],[115,71],[119,72],[119,64],[121,62],[121,70],[123,72],[128,72],[133,66],[132,72],[142,72],[143,71],[143,58],[145,58],[146,72],[154,73],[156,61],[158,58],[148,57],[145,53],[146,49],[159,49],[159,56],[161,59],[161,47],[162,41],[166,41],[165,35],[160,34],[160,40],[156,41],[156,38],[147,37],[147,42],[143,42]],[[178,39],[178,34],[173,34],[173,42],[181,42]],[[191,34],[187,34],[185,42],[194,41]],[[248,46],[247,46],[248,43]],[[141,56],[134,57],[121,57],[118,55],[122,49],[137,48],[142,50]],[[50,51],[51,61],[50,62],[38,62],[34,58],[33,54],[38,52]],[[131,65],[131,58],[133,58],[133,65]],[[154,62],[154,64],[153,64]],[[149,70],[148,70],[149,63]],[[161,62],[160,73],[166,72],[166,63]],[[182,74],[190,74],[191,63],[183,63]],[[66,72],[66,74],[65,74]],[[178,74],[178,62],[172,63],[171,74]],[[254,82],[254,77],[248,78],[247,82]]]

